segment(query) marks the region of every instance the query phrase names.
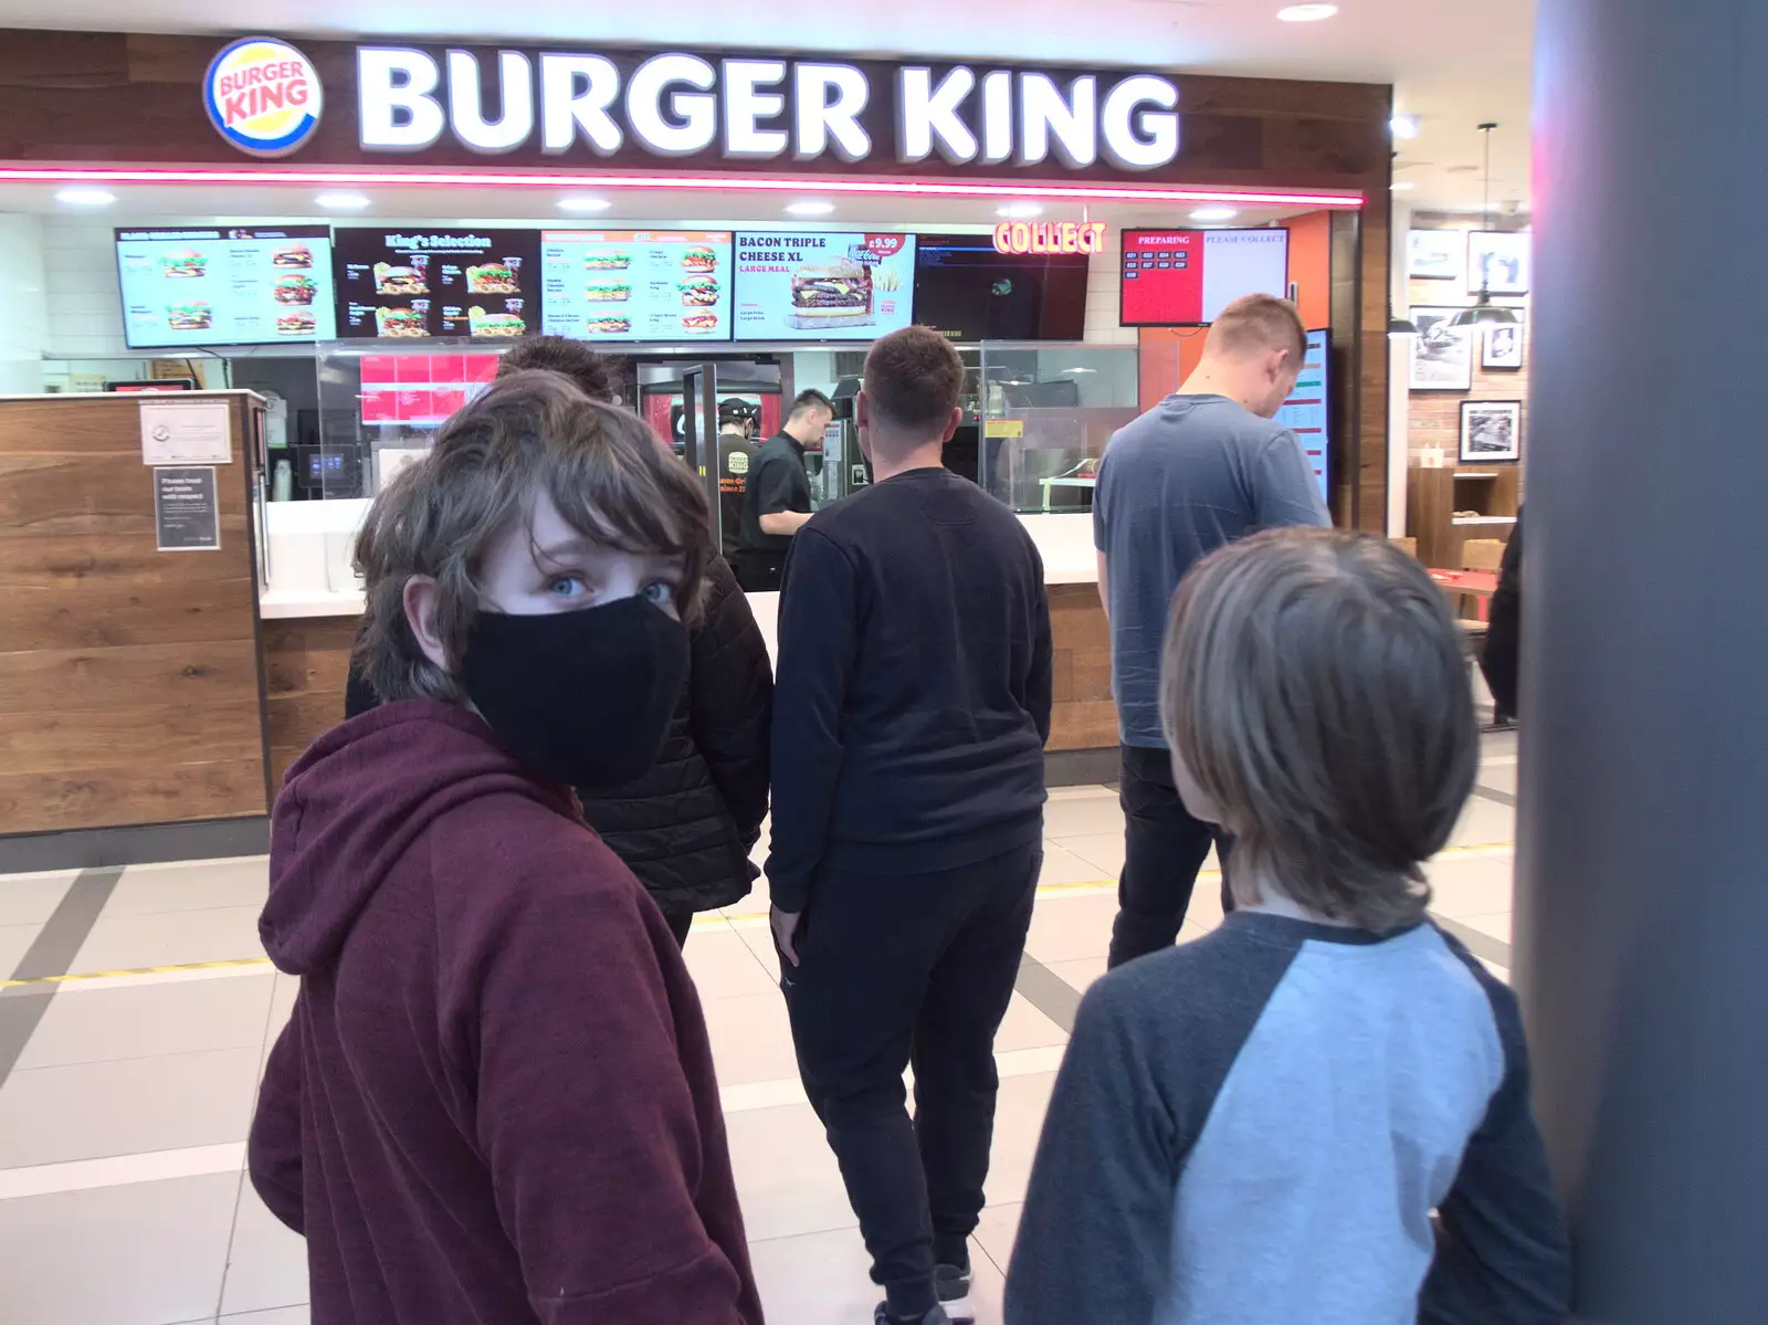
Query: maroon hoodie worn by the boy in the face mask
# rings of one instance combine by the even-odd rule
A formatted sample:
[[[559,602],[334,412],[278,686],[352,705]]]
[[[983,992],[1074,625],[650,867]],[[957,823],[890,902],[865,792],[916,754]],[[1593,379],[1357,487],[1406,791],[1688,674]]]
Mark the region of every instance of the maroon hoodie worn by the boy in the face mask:
[[[315,1325],[760,1325],[700,1003],[661,913],[472,713],[290,770],[260,922],[301,977],[251,1180]]]

